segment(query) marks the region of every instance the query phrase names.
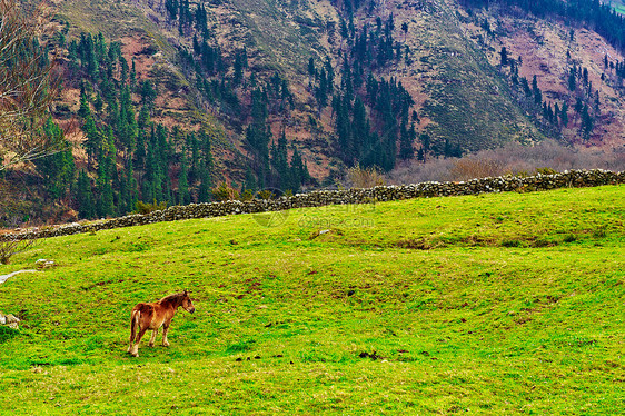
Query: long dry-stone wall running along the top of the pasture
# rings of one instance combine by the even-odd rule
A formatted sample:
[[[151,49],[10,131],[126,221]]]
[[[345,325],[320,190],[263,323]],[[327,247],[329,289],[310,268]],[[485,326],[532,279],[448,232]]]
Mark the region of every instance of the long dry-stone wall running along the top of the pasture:
[[[566,187],[595,187],[602,185],[625,184],[625,172],[602,169],[571,170],[555,175],[536,175],[532,177],[496,177],[473,179],[462,182],[423,182],[401,186],[378,186],[370,189],[317,190],[281,197],[272,200],[190,204],[175,206],[150,214],[135,214],[89,224],[68,224],[48,229],[28,229],[21,232],[0,235],[0,241],[29,238],[48,238],[68,236],[78,232],[95,232],[102,229],[132,227],[179,219],[219,217],[234,214],[252,214],[278,211],[291,208],[320,207],[326,205],[369,204],[410,198],[427,198],[457,195],[477,195],[484,192],[535,191]]]

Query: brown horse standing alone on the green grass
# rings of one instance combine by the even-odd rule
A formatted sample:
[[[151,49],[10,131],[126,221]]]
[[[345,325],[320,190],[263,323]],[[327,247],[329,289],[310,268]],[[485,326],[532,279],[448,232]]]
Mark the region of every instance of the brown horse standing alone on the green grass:
[[[159,301],[137,304],[137,306],[132,308],[130,318],[130,346],[128,347],[128,353],[132,354],[135,357],[139,356],[139,343],[148,329],[152,330],[150,344],[148,345],[153,347],[156,336],[161,326],[162,346],[169,347],[169,343],[167,341],[169,324],[171,324],[171,318],[173,318],[173,314],[176,314],[176,310],[178,310],[180,306],[190,314],[196,311],[196,307],[191,303],[187,290],[181,294],[166,296]],[[139,328],[138,334],[137,327]]]

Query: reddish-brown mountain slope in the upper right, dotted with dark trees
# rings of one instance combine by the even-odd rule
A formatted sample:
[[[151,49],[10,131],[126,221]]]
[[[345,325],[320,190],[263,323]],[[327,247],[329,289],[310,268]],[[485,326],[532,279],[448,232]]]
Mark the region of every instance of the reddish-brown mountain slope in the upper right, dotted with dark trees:
[[[607,148],[623,146],[625,113],[619,65],[624,57],[621,50],[587,27],[566,24],[564,20],[512,13],[503,7],[470,11],[470,14],[463,13],[463,31],[484,51],[493,67],[500,65],[500,50],[506,48],[510,58],[518,61],[522,57],[519,77],[532,80],[536,76],[545,101],[552,106],[558,103],[562,108],[567,103],[573,109],[577,99],[591,107],[598,102],[595,125],[587,137],[582,131],[582,117],[575,111],[569,113],[567,126],[552,133],[566,142]],[[576,73],[572,86],[573,70]],[[509,68],[500,71],[509,77]]]

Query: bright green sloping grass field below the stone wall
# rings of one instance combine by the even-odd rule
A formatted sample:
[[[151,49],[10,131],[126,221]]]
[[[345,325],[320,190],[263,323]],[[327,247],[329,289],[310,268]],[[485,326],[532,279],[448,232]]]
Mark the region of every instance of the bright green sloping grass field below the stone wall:
[[[0,266],[2,415],[613,415],[625,187],[415,199],[40,241]],[[138,301],[188,289],[171,346]],[[160,336],[157,344],[160,343]]]

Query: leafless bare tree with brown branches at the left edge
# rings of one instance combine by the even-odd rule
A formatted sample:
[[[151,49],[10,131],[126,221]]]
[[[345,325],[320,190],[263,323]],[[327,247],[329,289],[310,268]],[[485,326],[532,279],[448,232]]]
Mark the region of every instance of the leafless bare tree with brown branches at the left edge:
[[[59,91],[54,60],[39,47],[42,7],[27,13],[0,0],[0,171],[62,149],[65,140],[43,126]]]

